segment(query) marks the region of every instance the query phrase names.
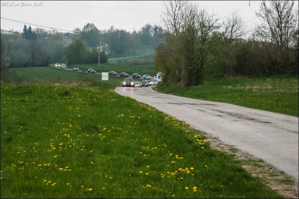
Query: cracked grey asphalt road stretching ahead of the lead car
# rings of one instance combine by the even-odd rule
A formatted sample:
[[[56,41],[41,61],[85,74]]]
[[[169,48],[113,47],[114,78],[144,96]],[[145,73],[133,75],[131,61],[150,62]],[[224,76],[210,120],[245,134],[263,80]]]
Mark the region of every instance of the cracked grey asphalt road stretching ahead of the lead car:
[[[115,92],[147,103],[262,159],[298,183],[298,117],[163,94],[150,87],[117,87]]]

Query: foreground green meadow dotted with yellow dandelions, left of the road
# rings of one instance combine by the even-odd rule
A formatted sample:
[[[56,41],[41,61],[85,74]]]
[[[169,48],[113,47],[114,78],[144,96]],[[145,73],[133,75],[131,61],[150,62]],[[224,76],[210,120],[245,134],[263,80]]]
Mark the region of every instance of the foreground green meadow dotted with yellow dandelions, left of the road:
[[[1,198],[282,198],[198,130],[113,88],[2,84]]]

